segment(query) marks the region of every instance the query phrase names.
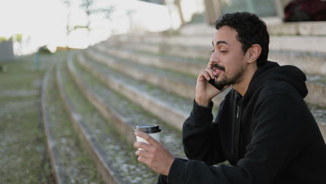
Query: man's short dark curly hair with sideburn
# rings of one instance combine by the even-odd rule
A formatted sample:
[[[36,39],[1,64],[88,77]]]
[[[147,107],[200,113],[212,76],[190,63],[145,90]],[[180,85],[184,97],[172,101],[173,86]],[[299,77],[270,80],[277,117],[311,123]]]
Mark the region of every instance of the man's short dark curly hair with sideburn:
[[[242,45],[243,53],[247,52],[247,49],[254,44],[261,45],[261,55],[257,59],[257,66],[258,68],[264,66],[267,61],[270,36],[263,20],[252,13],[228,13],[219,17],[215,22],[216,29],[222,26],[229,26],[238,32],[237,39]]]

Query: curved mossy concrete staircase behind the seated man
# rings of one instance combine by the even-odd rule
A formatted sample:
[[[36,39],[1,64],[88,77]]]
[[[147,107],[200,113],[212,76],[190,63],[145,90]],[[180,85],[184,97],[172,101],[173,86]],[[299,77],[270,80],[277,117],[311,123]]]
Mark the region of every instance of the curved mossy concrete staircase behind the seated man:
[[[326,139],[326,31],[309,31],[326,29],[326,24],[311,22],[303,27],[300,23],[271,25],[269,57],[306,72],[309,95],[305,100]],[[196,24],[175,33],[114,36],[70,53],[49,70],[43,81],[42,112],[57,183],[71,183],[75,177],[65,164],[70,158],[58,151],[59,124],[52,116],[59,116],[63,109],[75,139],[83,145],[79,149],[98,169],[97,183],[156,182],[157,174],[134,156],[133,131],[139,124],[159,124],[166,148],[175,157],[185,158],[181,128],[192,109],[196,76],[207,65],[214,31]],[[225,93],[213,100],[214,113]],[[54,104],[57,100],[61,103]]]

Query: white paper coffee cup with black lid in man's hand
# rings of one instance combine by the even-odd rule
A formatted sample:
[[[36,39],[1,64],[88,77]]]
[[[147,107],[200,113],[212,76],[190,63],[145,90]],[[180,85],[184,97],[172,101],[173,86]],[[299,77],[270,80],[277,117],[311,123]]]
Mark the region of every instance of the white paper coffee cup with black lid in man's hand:
[[[153,137],[153,139],[160,141],[160,132],[161,128],[159,125],[137,125],[136,129],[134,131],[139,131],[139,132],[145,132],[146,134],[150,135],[150,137]],[[143,139],[143,137],[138,137],[136,136],[137,141],[144,142],[146,144],[149,144],[148,141]],[[139,148],[141,149],[141,148]]]

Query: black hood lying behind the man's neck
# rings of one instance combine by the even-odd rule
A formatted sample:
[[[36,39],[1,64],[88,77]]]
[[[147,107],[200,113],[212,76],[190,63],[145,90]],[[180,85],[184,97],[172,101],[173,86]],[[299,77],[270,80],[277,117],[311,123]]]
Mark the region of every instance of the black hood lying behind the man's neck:
[[[302,98],[305,98],[308,94],[308,89],[306,89],[306,75],[304,75],[302,70],[295,66],[279,66],[276,62],[267,61],[263,67],[258,68],[255,72],[244,97],[250,98],[256,89],[267,80],[290,83],[300,93]]]

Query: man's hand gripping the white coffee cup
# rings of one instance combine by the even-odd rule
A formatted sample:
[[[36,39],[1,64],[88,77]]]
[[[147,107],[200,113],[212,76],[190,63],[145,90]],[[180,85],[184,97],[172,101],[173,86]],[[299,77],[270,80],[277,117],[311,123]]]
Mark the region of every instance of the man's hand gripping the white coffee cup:
[[[169,153],[160,142],[150,137],[150,135],[144,132],[135,132],[135,135],[143,137],[143,139],[146,139],[149,143],[146,144],[139,141],[134,143],[134,148],[143,149],[135,153],[135,155],[138,156],[138,161],[143,162],[150,167],[150,169],[153,169],[153,171],[168,176],[174,161],[171,153]]]

